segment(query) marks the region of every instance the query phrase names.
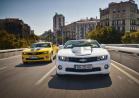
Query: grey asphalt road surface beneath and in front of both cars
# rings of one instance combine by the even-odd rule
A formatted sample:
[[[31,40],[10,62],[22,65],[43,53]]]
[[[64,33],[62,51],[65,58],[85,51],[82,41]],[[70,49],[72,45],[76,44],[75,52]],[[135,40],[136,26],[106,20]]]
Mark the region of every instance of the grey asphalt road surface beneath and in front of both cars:
[[[0,98],[139,98],[139,74],[112,61],[110,77],[55,75],[53,63],[0,60]]]

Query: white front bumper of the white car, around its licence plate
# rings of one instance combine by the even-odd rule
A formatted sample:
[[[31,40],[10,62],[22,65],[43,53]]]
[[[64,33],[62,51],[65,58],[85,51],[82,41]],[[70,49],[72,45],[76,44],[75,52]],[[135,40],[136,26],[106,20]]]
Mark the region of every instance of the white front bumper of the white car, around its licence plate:
[[[61,65],[60,70],[58,66]],[[92,65],[92,69],[75,69],[75,65]],[[108,65],[108,68],[105,66]],[[92,75],[92,74],[109,74],[110,72],[110,60],[96,61],[89,63],[75,63],[75,62],[63,62],[57,60],[56,72],[60,75]]]

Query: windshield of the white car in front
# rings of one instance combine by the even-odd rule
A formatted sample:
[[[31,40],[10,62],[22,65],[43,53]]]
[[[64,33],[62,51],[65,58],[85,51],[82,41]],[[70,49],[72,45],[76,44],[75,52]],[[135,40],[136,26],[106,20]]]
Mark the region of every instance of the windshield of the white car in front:
[[[91,47],[100,48],[100,45],[95,40],[71,40],[65,43],[64,48],[74,48],[74,47]]]

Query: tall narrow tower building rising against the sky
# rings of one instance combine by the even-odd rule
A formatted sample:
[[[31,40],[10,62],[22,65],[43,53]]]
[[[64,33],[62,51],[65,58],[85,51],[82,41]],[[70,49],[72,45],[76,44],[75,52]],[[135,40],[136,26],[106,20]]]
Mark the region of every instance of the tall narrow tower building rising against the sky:
[[[65,17],[62,14],[56,13],[53,17],[53,31],[60,31],[65,26]]]

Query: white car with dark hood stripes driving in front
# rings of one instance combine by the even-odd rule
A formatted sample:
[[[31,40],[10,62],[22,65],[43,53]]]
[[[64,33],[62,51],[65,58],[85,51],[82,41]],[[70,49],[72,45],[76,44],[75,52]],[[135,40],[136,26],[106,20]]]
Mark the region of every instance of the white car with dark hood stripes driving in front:
[[[96,40],[70,40],[59,50],[56,74],[90,75],[110,72],[109,52]]]

